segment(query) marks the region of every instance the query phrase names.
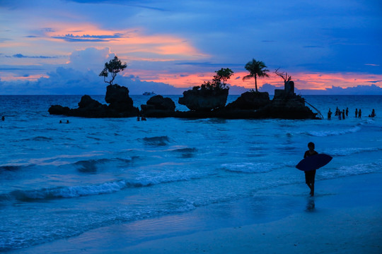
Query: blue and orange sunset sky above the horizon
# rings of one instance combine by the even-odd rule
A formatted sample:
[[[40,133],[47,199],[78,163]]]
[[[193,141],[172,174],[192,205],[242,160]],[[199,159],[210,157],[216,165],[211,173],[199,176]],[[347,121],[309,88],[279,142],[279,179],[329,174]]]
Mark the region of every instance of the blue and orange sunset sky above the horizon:
[[[245,63],[291,75],[306,94],[382,95],[381,0],[0,0],[0,95],[102,95],[114,83],[162,95],[231,68],[230,94],[254,88]]]

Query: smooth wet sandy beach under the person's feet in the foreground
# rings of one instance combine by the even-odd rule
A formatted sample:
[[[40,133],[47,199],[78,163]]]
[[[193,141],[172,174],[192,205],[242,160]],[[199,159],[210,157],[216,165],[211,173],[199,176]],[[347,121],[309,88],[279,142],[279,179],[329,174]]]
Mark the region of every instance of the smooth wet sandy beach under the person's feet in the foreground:
[[[11,253],[382,253],[382,174],[304,184]]]

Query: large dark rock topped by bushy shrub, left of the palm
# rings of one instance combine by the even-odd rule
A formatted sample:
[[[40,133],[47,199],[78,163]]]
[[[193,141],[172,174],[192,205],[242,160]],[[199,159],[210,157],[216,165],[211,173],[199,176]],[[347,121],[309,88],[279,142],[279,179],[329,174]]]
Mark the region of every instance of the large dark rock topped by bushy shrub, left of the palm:
[[[188,109],[195,111],[211,111],[226,105],[228,88],[219,90],[198,90],[197,87],[183,92],[179,104],[185,105]]]

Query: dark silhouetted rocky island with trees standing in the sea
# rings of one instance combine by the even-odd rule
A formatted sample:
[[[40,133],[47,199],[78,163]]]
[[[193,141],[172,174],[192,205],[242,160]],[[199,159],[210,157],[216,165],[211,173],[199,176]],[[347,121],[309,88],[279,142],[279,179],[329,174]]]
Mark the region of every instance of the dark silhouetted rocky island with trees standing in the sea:
[[[286,73],[277,75],[284,79],[284,89],[274,90],[274,97],[270,99],[267,92],[257,90],[257,78],[267,77],[267,66],[262,61],[253,59],[245,65],[249,71],[243,80],[255,79],[255,90],[241,94],[236,101],[226,105],[229,87],[226,81],[231,78],[233,71],[221,68],[215,71],[216,75],[211,81],[205,81],[200,86],[183,92],[178,103],[185,105],[189,111],[175,111],[175,103],[168,97],[155,95],[141,109],[133,106],[129,97],[129,89],[124,86],[112,84],[117,73],[127,67],[117,56],[105,63],[100,76],[104,78],[106,87],[105,102],[101,104],[88,95],[83,95],[79,107],[69,109],[61,105],[52,105],[48,110],[50,114],[64,116],[81,116],[89,118],[120,118],[144,115],[147,117],[176,117],[176,118],[221,118],[221,119],[320,119],[318,113],[313,113],[305,105],[305,99],[294,92],[294,81]],[[111,79],[106,80],[110,74]]]

